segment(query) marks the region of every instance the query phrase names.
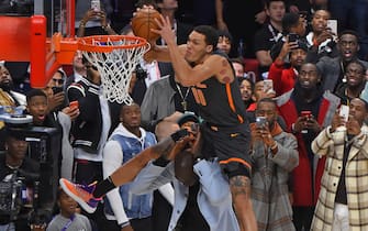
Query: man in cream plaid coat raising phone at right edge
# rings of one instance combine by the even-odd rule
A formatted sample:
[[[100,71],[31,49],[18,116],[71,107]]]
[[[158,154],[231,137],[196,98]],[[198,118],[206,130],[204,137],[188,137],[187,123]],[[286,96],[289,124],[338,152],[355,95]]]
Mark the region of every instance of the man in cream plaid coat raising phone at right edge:
[[[367,125],[368,101],[355,98],[347,122],[335,113],[332,124],[312,142],[317,156],[325,156],[321,194],[311,230],[367,230]],[[344,127],[345,129],[341,129]]]

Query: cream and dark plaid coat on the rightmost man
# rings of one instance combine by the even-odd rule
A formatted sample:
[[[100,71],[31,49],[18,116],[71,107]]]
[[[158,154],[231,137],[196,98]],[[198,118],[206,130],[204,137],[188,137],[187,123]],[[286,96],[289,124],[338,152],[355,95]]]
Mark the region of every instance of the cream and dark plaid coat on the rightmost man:
[[[361,131],[367,131],[367,127],[364,125]],[[343,167],[344,145],[344,132],[330,133],[330,127],[312,142],[313,152],[320,156],[326,156],[327,161],[311,230],[328,231],[332,229],[336,189]],[[368,230],[367,132],[361,132],[353,139],[345,169],[349,231]]]

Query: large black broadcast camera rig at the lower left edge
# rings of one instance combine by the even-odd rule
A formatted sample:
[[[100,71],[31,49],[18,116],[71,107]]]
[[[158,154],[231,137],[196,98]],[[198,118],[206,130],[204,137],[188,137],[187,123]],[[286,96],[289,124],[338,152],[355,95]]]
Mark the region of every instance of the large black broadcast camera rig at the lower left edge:
[[[18,208],[19,205],[23,208],[26,204],[30,204],[29,199],[23,198],[24,186],[26,185],[27,187],[30,186],[31,191],[33,191],[32,206],[29,205],[31,209],[34,211],[37,211],[38,208],[52,210],[56,201],[59,178],[60,131],[56,128],[34,127],[32,124],[32,116],[26,114],[11,114],[4,112],[0,114],[0,120],[5,124],[4,129],[7,134],[27,141],[29,148],[26,156],[38,163],[38,165],[36,165],[36,168],[38,168],[36,173],[25,173],[24,169],[18,168],[16,174],[14,174],[15,178],[0,186],[2,191],[0,193],[0,198],[3,201],[9,201],[7,195],[9,196],[9,188],[11,188],[10,198],[12,198],[13,206],[7,206],[3,209],[9,211],[9,213],[12,212],[15,215],[15,208]],[[14,188],[16,188],[16,190]],[[42,191],[42,194],[38,195],[38,190]],[[14,191],[18,193],[15,194]],[[0,204],[3,205],[2,201],[0,201]],[[14,218],[16,218],[16,216],[14,216]]]

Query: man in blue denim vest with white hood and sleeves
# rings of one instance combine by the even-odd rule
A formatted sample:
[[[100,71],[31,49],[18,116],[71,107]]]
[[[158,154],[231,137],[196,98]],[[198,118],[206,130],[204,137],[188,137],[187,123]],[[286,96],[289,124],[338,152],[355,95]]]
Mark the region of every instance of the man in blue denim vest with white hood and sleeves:
[[[156,144],[155,135],[142,129],[141,108],[138,105],[123,106],[120,113],[121,123],[111,134],[103,150],[103,175],[108,177],[122,164],[141,153],[144,148]],[[168,198],[174,200],[172,187],[164,186]],[[109,220],[116,220],[116,230],[150,231],[152,227],[152,191],[134,195],[130,184],[111,190],[108,195],[104,212]]]

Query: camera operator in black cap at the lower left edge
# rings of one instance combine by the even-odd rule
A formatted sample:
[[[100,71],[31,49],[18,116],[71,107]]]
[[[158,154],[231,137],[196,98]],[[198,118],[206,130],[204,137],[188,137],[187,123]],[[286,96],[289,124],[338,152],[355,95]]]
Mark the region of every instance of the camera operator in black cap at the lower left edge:
[[[31,230],[29,217],[33,210],[32,191],[35,178],[32,175],[40,172],[40,165],[26,156],[29,143],[24,138],[8,127],[3,129],[5,151],[0,154],[0,230],[27,231]],[[19,184],[19,180],[21,184],[18,188],[16,199],[12,201],[14,184]],[[22,195],[20,188],[22,188]],[[12,202],[15,202],[15,208],[12,208]]]

